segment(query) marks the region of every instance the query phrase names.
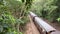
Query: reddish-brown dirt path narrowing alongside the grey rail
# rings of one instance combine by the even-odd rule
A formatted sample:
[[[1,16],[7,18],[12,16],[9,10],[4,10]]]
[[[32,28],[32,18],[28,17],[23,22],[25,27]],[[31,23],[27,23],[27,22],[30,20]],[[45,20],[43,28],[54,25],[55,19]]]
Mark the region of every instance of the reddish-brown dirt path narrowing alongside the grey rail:
[[[30,16],[29,16],[30,17]],[[30,18],[30,22],[26,25],[25,34],[40,34],[36,26],[34,25],[33,21]]]

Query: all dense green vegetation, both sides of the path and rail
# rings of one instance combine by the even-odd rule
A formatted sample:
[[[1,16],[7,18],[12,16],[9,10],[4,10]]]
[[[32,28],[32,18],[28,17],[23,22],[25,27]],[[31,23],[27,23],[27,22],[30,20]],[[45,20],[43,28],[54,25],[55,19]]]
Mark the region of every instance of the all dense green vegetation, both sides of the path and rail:
[[[29,10],[50,22],[60,22],[60,0],[0,0],[0,34],[22,34]]]

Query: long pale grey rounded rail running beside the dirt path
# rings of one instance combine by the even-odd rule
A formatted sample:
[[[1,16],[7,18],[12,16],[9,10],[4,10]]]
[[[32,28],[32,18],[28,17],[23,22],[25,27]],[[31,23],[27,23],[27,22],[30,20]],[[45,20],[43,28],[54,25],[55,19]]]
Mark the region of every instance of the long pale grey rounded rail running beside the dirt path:
[[[60,34],[59,31],[57,31],[54,27],[43,21],[33,12],[30,12],[30,16],[41,34],[58,34],[58,33]]]

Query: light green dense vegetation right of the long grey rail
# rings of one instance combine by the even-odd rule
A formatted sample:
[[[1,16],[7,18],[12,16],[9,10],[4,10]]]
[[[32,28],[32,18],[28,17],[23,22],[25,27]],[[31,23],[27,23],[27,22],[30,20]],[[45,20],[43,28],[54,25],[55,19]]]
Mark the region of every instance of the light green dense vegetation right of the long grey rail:
[[[50,22],[60,21],[60,0],[36,0],[31,10]]]

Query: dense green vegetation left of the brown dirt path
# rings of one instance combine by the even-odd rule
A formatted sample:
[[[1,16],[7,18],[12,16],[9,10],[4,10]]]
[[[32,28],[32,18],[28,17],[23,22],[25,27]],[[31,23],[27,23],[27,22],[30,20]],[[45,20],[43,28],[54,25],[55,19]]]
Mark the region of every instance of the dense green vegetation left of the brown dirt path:
[[[22,34],[32,0],[0,0],[0,34]]]

